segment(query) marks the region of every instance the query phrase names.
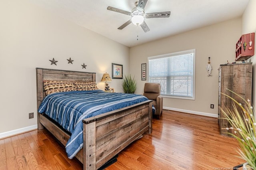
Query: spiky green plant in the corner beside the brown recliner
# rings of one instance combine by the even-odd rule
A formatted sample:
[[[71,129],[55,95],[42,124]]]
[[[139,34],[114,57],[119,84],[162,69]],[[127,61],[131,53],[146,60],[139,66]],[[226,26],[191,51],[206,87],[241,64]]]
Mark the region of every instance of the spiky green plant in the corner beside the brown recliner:
[[[137,82],[132,78],[132,76],[124,75],[124,79],[122,80],[122,87],[124,90],[124,93],[134,93],[137,89]]]

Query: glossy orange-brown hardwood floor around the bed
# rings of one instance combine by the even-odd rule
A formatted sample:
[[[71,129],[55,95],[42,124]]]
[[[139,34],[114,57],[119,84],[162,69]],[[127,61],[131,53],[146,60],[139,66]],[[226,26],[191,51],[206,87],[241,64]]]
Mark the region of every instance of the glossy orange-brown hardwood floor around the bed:
[[[219,134],[218,119],[163,111],[145,134],[118,154],[106,170],[220,170],[244,162],[238,143]],[[0,140],[0,170],[81,170],[47,130],[34,130]]]

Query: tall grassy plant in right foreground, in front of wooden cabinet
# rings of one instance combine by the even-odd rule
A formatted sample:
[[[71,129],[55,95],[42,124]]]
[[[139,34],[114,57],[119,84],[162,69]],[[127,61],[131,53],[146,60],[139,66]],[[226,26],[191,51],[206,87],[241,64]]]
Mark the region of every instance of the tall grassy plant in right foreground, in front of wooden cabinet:
[[[234,93],[233,91],[230,92]],[[234,94],[244,101],[244,106],[242,106],[241,103],[238,103],[234,98],[223,94],[233,101],[233,108],[229,108],[225,111],[220,108],[224,116],[224,118],[220,119],[226,119],[230,123],[231,127],[226,129],[233,130],[234,133],[227,133],[238,140],[240,149],[238,149],[237,152],[240,154],[242,159],[248,162],[248,165],[252,169],[256,170],[256,123],[253,108],[250,105],[249,99],[246,101],[240,95],[236,93]],[[239,107],[242,110],[241,113],[238,111],[240,110],[238,109]]]

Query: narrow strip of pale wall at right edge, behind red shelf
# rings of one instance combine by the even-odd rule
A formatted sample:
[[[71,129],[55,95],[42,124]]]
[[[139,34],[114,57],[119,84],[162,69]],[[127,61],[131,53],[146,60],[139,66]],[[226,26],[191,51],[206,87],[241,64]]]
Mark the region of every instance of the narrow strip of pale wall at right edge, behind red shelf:
[[[256,18],[256,1],[250,0],[246,9],[244,10],[244,14],[242,16],[242,34],[248,34],[251,32],[256,32],[256,22],[254,21]],[[256,45],[254,43],[254,49]],[[254,53],[256,50],[254,50]],[[252,105],[256,106],[256,58],[255,55],[252,56],[248,61],[252,62]]]

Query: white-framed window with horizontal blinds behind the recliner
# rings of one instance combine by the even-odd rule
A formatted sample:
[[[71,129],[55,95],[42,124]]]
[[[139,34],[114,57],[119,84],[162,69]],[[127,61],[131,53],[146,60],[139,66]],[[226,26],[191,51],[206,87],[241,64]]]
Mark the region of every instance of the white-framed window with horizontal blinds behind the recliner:
[[[194,100],[195,49],[148,57],[148,82],[165,97]]]

